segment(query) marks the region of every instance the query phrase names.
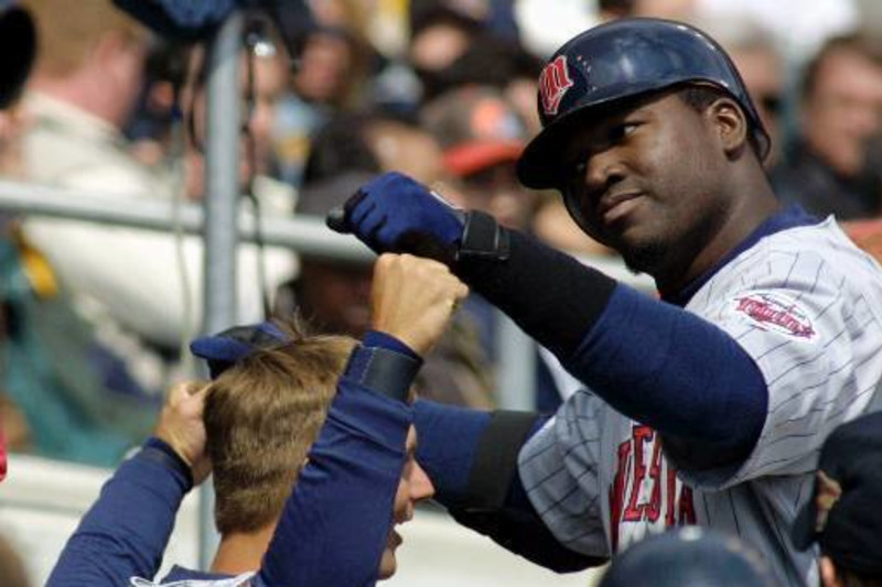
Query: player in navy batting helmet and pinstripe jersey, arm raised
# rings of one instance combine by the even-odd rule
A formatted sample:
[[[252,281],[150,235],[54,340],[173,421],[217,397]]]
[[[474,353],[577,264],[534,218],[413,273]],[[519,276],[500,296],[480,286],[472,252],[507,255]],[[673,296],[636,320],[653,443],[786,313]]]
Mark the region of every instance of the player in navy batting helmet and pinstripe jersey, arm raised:
[[[444,260],[585,384],[544,424],[418,402],[437,499],[559,570],[702,524],[757,548],[783,584],[817,584],[817,553],[787,529],[827,434],[879,395],[880,267],[832,218],[781,208],[768,135],[699,30],[589,30],[548,61],[538,107],[520,181],[560,191],[660,300],[402,175],[329,218],[376,251]]]

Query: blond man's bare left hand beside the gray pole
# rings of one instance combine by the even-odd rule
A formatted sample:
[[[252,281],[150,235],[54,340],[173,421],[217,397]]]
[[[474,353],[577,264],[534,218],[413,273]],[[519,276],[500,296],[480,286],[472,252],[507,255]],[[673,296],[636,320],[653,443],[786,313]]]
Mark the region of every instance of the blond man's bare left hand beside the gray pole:
[[[193,471],[193,485],[200,485],[212,471],[205,450],[206,434],[202,414],[208,383],[185,381],[169,391],[157,423],[155,435],[178,453]]]

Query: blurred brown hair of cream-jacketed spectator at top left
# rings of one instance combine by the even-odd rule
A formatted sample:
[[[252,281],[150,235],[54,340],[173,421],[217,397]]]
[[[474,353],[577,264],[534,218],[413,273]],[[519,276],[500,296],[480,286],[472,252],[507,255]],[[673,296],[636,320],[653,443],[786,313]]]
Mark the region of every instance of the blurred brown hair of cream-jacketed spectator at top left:
[[[31,10],[36,23],[37,69],[50,76],[77,69],[105,33],[116,32],[131,42],[149,35],[110,0],[23,0],[22,4]]]

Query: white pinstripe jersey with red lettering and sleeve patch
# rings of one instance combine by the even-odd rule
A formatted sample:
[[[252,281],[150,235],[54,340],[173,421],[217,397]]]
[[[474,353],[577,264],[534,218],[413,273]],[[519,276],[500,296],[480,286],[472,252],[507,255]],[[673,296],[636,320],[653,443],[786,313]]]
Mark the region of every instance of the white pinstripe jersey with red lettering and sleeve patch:
[[[797,552],[789,529],[824,439],[882,400],[882,270],[828,218],[761,239],[686,309],[732,336],[765,379],[768,414],[749,458],[676,471],[654,431],[582,390],[521,449],[527,493],[578,552],[610,556],[666,525],[698,523],[741,535],[784,585],[816,585],[816,554]]]

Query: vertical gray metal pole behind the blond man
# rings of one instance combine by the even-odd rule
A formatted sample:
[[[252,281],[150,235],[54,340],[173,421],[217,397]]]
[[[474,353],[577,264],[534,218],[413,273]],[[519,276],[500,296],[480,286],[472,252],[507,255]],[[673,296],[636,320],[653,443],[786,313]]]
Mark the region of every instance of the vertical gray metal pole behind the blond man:
[[[233,13],[208,50],[208,120],[205,165],[205,333],[236,320],[236,211],[239,196],[239,48],[243,15]],[[207,568],[217,547],[214,491],[200,489],[200,563]]]

